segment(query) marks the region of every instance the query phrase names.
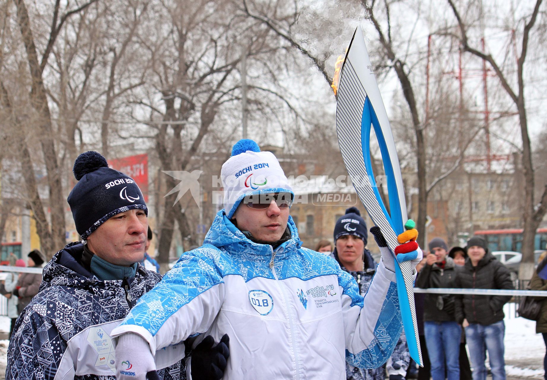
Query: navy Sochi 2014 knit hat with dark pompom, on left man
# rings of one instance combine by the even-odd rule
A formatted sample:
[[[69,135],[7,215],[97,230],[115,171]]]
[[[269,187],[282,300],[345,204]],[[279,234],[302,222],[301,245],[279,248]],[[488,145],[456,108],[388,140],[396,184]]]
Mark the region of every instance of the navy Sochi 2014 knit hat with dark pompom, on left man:
[[[83,240],[120,212],[141,209],[148,215],[141,189],[135,181],[118,170],[110,169],[101,154],[94,151],[80,154],[72,171],[79,182],[67,200],[76,231]]]

